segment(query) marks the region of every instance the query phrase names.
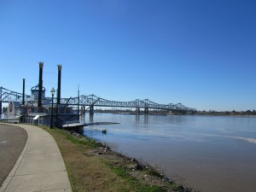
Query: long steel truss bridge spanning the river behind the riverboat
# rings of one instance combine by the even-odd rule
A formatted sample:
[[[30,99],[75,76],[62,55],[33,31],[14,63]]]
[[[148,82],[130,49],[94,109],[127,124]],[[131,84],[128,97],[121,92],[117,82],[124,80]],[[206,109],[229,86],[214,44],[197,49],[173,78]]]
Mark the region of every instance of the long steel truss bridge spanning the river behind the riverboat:
[[[0,105],[2,109],[2,102],[20,102],[22,103],[23,96],[21,93],[5,89],[3,87],[0,87]],[[31,99],[31,96],[25,95],[24,100],[29,101]],[[51,97],[46,97],[47,100],[51,101]],[[57,103],[57,98],[55,97],[53,100],[54,103]],[[93,110],[94,106],[97,107],[114,107],[114,108],[144,108],[145,113],[148,113],[148,109],[160,109],[160,110],[168,110],[172,112],[182,112],[182,113],[195,113],[195,108],[187,108],[183,106],[181,103],[177,104],[159,104],[156,102],[152,102],[148,99],[144,100],[134,100],[131,102],[116,102],[116,101],[110,101],[107,99],[103,99],[101,97],[95,96],[95,95],[81,95],[77,97],[70,97],[70,98],[61,98],[61,104],[65,105],[72,105],[72,106],[90,106],[90,111]],[[1,110],[0,109],[0,110]]]

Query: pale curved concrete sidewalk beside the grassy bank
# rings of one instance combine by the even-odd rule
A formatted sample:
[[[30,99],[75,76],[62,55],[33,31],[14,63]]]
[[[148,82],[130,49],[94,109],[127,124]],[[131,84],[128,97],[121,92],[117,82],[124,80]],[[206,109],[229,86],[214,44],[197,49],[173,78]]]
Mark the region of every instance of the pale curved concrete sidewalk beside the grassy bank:
[[[17,125],[27,131],[26,146],[0,192],[71,192],[61,152],[48,132],[32,125]]]

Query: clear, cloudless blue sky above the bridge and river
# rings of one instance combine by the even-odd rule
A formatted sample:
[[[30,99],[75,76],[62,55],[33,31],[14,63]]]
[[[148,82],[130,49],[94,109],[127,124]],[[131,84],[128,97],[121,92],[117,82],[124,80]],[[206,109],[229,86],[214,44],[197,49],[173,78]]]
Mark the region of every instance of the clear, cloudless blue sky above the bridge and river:
[[[256,1],[0,0],[0,86],[256,109]]]

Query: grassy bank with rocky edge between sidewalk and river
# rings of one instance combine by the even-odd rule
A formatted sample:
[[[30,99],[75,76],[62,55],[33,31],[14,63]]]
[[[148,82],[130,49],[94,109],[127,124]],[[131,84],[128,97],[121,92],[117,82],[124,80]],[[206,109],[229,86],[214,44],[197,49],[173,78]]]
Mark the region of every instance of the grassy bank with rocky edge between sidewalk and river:
[[[43,129],[55,138],[61,150],[73,192],[191,191],[102,143],[59,129]]]

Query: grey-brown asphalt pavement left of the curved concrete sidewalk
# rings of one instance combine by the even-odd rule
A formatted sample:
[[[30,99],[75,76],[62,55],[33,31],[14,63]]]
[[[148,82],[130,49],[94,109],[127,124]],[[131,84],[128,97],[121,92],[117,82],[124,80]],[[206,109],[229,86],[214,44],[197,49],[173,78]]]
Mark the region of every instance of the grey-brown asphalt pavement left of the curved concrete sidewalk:
[[[24,129],[0,124],[0,186],[15,166],[26,139],[27,133]]]

